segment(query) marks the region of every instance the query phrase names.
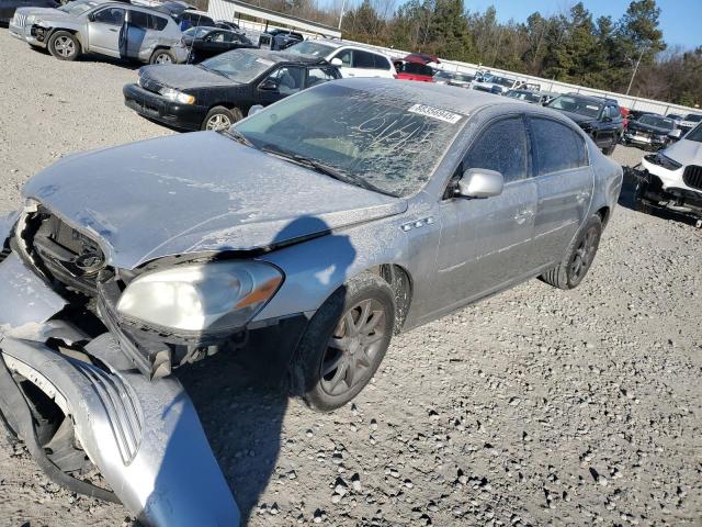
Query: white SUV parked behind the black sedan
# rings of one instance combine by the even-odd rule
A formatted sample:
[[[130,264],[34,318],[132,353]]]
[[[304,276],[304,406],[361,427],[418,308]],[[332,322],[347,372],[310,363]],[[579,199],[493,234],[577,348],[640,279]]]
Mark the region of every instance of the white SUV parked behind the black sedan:
[[[314,40],[295,44],[287,53],[326,58],[341,71],[342,77],[395,78],[396,71],[389,58],[372,49],[347,44],[342,41]]]

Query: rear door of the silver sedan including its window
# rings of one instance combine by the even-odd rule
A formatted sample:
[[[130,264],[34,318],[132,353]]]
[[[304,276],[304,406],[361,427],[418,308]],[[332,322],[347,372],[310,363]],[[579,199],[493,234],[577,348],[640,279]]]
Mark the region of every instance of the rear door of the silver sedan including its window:
[[[548,267],[561,261],[585,222],[595,176],[585,141],[570,126],[547,117],[530,116],[529,131],[537,195],[534,266]]]

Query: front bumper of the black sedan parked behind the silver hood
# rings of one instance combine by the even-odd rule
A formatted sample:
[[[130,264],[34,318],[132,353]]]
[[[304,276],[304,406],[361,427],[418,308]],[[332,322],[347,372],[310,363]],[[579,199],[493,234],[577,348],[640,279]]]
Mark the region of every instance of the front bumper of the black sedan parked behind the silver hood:
[[[205,106],[171,102],[158,93],[145,90],[139,85],[125,85],[122,93],[127,108],[139,115],[169,126],[197,131],[207,115]]]

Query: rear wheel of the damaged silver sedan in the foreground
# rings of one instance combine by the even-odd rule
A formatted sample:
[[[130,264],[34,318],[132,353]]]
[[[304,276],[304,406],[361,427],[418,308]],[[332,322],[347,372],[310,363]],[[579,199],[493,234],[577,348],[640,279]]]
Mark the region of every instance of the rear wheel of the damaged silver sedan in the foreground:
[[[574,289],[590,270],[602,237],[602,220],[591,216],[575,236],[561,264],[547,270],[541,279],[558,289]]]

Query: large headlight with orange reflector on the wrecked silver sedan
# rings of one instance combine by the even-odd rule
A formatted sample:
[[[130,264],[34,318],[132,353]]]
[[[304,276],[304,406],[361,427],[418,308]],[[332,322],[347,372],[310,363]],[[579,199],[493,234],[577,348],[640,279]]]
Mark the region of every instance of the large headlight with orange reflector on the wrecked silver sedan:
[[[162,328],[225,332],[253,318],[282,281],[278,268],[258,261],[184,264],[137,277],[117,311]]]

